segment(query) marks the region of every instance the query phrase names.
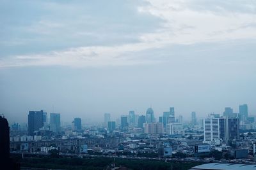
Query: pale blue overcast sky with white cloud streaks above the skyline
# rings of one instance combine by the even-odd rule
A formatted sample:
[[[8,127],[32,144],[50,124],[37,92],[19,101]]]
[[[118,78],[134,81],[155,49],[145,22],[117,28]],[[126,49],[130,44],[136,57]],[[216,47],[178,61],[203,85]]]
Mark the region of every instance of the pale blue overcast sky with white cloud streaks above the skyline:
[[[0,113],[256,116],[256,1],[0,0]]]

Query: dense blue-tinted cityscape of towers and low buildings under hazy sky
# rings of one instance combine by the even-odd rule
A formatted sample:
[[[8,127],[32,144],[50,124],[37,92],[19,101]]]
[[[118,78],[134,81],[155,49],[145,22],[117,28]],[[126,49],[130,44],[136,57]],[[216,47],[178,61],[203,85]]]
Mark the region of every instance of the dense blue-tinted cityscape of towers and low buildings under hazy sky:
[[[3,116],[2,116],[3,117]],[[28,124],[10,125],[10,152],[13,155],[52,155],[61,157],[108,157],[163,159],[189,162],[246,163],[255,162],[255,116],[248,115],[247,104],[239,113],[225,108],[198,120],[184,123],[175,108],[156,118],[148,108],[145,115],[129,111],[116,121],[111,113],[102,115],[99,125],[83,125],[74,117],[61,125],[61,113],[29,111]]]

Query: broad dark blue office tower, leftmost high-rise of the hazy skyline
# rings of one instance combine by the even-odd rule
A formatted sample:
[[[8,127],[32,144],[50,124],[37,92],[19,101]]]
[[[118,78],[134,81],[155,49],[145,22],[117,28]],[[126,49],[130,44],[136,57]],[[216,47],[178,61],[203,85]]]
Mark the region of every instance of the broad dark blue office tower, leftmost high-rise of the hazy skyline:
[[[34,135],[34,131],[38,131],[44,126],[44,111],[29,111],[28,113],[28,134]]]

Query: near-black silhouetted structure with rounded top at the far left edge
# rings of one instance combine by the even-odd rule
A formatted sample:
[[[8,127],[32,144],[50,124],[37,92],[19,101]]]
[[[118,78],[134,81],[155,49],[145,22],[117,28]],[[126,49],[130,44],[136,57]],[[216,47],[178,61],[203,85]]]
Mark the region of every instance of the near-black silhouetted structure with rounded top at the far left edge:
[[[10,157],[10,128],[6,118],[0,115],[0,160]]]

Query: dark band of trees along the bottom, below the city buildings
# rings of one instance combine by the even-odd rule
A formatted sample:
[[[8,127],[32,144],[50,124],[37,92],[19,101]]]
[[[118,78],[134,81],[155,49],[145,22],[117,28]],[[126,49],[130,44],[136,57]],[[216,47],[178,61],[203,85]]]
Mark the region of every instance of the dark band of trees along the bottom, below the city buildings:
[[[163,160],[138,160],[120,158],[26,158],[20,159],[21,167],[40,167],[48,169],[74,169],[74,170],[102,170],[109,169],[111,164],[125,166],[129,169],[179,169],[185,170],[200,163],[196,162],[164,162]]]

